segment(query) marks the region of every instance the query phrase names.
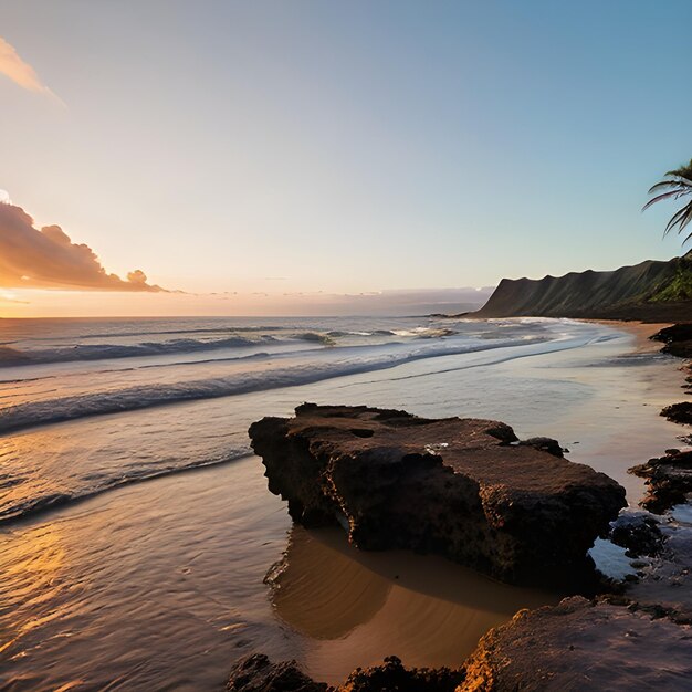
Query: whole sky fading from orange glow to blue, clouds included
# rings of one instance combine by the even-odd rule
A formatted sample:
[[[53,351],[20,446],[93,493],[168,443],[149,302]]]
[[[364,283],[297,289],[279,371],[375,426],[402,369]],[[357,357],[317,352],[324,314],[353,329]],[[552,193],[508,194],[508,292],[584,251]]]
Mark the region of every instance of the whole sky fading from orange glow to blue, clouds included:
[[[328,313],[680,254],[641,207],[692,157],[691,22],[0,0],[0,315]]]

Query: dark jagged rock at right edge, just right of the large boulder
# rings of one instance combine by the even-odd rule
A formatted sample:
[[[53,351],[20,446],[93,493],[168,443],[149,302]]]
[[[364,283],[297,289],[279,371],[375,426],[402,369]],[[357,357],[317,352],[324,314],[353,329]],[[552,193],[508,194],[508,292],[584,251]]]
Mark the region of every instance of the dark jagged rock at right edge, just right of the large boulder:
[[[650,459],[629,472],[647,480],[647,496],[641,506],[662,514],[685,502],[688,493],[692,493],[692,450],[668,450],[664,457]]]

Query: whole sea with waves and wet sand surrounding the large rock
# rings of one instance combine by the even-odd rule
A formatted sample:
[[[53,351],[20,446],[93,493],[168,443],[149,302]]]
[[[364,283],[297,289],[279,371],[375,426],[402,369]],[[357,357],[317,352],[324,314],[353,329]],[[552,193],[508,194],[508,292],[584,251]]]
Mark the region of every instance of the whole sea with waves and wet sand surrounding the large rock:
[[[458,664],[557,595],[292,527],[249,424],[304,401],[499,419],[633,505],[627,468],[679,434],[675,368],[636,346],[541,318],[0,321],[0,688],[222,689],[255,650],[327,681]]]

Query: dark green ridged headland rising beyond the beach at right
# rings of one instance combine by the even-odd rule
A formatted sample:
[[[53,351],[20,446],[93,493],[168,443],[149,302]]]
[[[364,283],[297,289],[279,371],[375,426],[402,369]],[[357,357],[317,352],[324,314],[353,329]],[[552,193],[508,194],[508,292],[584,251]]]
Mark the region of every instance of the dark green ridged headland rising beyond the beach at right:
[[[610,272],[544,279],[503,279],[473,316],[595,317],[684,322],[692,318],[692,252]]]

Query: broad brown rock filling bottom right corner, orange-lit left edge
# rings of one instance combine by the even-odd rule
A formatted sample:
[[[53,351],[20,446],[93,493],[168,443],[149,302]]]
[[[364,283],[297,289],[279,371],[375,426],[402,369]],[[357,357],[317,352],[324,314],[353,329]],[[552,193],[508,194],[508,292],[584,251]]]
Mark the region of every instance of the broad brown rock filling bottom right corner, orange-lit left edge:
[[[491,630],[458,692],[690,689],[692,629],[575,596]]]

